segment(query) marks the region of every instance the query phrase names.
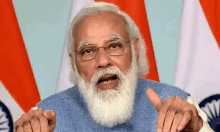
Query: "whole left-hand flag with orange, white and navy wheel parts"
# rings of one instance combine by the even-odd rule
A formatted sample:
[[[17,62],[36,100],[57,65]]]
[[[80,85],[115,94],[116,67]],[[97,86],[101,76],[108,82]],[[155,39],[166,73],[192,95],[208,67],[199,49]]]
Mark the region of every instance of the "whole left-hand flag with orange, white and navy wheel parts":
[[[11,0],[0,0],[0,131],[36,106],[40,95]]]

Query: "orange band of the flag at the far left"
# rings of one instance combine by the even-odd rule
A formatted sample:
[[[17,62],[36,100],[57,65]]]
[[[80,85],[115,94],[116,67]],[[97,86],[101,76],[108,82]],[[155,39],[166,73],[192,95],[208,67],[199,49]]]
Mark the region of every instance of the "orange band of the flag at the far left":
[[[40,101],[11,0],[0,0],[0,80],[25,112]]]

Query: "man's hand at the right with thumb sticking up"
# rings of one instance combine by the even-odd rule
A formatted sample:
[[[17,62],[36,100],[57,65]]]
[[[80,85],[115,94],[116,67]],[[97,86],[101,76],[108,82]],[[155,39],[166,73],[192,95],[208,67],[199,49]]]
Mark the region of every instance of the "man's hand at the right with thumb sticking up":
[[[203,121],[196,107],[180,97],[169,97],[162,102],[153,89],[146,90],[147,96],[158,111],[157,132],[199,132]]]

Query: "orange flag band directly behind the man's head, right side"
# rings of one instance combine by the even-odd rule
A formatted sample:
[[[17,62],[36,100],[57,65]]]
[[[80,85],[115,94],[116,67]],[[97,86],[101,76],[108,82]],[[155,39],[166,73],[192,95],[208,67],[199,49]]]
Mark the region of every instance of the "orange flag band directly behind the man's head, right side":
[[[149,73],[144,77],[151,80],[159,81],[144,0],[95,0],[95,1],[106,1],[110,3],[114,3],[118,5],[121,10],[125,11],[127,14],[131,16],[131,18],[140,28],[141,34],[143,35],[147,47],[146,54],[149,65]]]

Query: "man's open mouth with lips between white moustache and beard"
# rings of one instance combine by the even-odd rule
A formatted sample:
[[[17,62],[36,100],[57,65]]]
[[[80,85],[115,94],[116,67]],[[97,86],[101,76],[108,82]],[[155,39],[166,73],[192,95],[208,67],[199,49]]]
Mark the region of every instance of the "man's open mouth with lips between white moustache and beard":
[[[97,85],[101,89],[107,90],[107,89],[115,88],[118,85],[118,83],[119,83],[119,77],[115,74],[111,74],[101,77],[98,80]]]

